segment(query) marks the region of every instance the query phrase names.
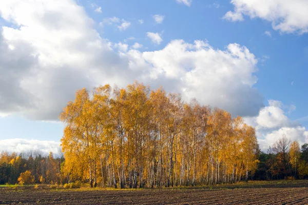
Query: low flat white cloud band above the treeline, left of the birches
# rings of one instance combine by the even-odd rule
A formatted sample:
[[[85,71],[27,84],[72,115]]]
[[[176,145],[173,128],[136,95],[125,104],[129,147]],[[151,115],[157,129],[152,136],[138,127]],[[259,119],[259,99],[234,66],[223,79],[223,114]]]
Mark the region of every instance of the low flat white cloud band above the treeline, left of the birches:
[[[60,154],[60,142],[56,141],[14,138],[0,140],[0,145],[0,152],[27,153],[39,151],[44,155],[48,155],[49,152]]]

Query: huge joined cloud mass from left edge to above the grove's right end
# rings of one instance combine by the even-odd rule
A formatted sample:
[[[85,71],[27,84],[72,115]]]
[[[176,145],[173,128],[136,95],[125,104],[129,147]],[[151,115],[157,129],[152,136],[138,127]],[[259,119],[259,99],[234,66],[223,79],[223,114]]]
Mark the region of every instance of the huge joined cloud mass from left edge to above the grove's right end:
[[[254,116],[263,107],[254,88],[258,60],[244,46],[219,50],[202,40],[178,39],[161,50],[140,52],[140,45],[130,49],[104,39],[84,8],[69,0],[0,1],[0,15],[12,25],[2,27],[0,35],[0,113],[57,120],[77,89],[106,83],[122,87],[134,79],[182,93],[185,100],[196,97],[233,116]],[[159,33],[147,35],[155,44],[162,42]]]

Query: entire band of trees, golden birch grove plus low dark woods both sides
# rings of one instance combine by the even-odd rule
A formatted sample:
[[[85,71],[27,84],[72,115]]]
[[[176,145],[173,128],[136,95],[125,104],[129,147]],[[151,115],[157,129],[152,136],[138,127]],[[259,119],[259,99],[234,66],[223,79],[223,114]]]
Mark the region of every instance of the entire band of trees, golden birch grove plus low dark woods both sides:
[[[60,115],[63,155],[0,155],[0,184],[142,188],[308,176],[308,145],[286,137],[259,150],[255,129],[221,109],[135,82],[76,92]]]

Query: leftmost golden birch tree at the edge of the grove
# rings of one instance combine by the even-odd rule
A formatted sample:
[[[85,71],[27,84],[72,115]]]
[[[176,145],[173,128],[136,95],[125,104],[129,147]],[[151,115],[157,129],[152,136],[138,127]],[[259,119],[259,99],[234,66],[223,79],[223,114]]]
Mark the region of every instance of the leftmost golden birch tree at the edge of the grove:
[[[68,172],[76,173],[78,176],[87,176],[90,187],[93,187],[92,173],[95,160],[93,147],[97,146],[95,141],[98,137],[95,110],[91,109],[92,105],[88,91],[82,89],[76,92],[75,100],[69,102],[60,115],[61,121],[66,124],[61,146],[67,159],[65,163],[66,167],[69,167]],[[84,163],[85,159],[87,166]],[[84,173],[86,170],[88,170],[88,175]],[[94,186],[96,186],[95,182]]]

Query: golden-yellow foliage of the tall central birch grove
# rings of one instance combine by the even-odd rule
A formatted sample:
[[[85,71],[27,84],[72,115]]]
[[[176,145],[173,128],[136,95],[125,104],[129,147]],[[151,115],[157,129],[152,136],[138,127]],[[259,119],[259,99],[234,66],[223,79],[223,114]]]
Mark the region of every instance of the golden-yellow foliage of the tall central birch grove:
[[[258,163],[255,130],[241,117],[233,119],[218,108],[211,112],[197,100],[184,104],[179,94],[163,88],[150,92],[137,81],[125,89],[94,88],[92,97],[79,90],[60,119],[66,125],[61,171],[71,179],[104,182],[107,177],[108,183],[117,183],[113,175],[127,179],[135,174],[144,181],[161,177],[162,185],[179,175],[201,179],[207,170],[243,173]]]

